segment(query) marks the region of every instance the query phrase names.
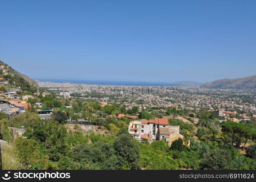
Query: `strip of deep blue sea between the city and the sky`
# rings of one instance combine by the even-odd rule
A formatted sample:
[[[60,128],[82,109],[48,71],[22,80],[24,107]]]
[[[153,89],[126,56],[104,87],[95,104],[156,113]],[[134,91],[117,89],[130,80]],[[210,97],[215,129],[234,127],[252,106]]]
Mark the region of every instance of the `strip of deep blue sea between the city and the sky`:
[[[123,86],[186,86],[183,84],[163,83],[163,82],[139,82],[139,81],[117,81],[117,80],[78,80],[78,79],[36,79],[40,82],[55,83],[81,83],[81,84],[99,84],[99,85],[123,85]]]

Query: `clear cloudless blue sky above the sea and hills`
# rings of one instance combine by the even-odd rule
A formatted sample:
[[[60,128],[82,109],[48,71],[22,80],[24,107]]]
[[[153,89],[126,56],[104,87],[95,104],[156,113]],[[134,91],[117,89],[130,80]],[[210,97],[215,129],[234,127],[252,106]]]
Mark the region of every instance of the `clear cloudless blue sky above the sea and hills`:
[[[2,1],[0,60],[32,78],[252,76],[255,7],[255,0]]]

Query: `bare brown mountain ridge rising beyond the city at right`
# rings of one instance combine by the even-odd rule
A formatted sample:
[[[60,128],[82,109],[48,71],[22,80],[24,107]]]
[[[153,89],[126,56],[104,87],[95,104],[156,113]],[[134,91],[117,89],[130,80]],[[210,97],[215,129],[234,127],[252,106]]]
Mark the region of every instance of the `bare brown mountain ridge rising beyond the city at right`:
[[[256,88],[256,75],[245,78],[222,79],[206,82],[200,88]]]

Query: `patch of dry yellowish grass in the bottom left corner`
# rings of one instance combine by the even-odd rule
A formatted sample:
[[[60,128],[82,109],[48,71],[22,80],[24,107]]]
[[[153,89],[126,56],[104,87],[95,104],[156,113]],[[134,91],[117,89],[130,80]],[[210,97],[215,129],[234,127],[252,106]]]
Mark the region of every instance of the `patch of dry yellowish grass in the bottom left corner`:
[[[18,169],[19,162],[17,158],[17,153],[16,153],[16,146],[15,143],[9,142],[7,143],[2,143],[1,144],[1,150],[2,150],[2,166],[3,169]]]

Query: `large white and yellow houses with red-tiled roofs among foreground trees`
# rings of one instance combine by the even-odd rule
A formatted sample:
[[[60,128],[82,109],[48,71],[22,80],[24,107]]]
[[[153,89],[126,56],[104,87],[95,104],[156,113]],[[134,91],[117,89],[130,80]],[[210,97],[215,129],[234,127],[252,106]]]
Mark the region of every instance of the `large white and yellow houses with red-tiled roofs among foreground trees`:
[[[171,146],[173,141],[181,138],[184,143],[184,136],[179,134],[179,126],[169,126],[166,118],[133,120],[129,123],[128,131],[139,142],[164,140]]]

